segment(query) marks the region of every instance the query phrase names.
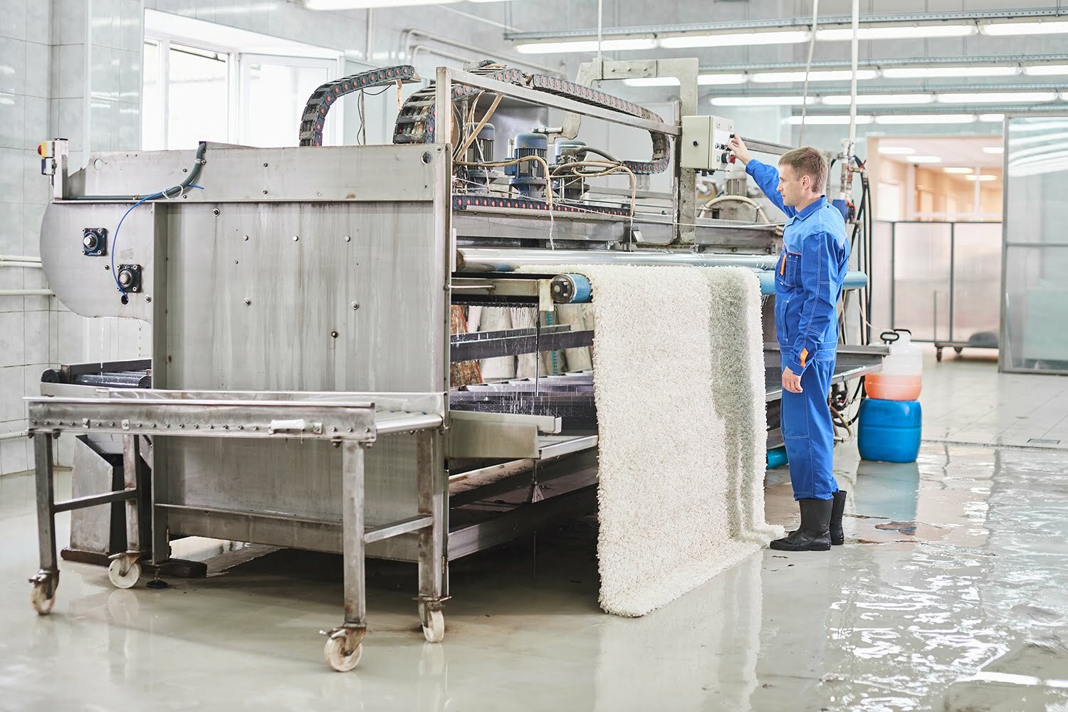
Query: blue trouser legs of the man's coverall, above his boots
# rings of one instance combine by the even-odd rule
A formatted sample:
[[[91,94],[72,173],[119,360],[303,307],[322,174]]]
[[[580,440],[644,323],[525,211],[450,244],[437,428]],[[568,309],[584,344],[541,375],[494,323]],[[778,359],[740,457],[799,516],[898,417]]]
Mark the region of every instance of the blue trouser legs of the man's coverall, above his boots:
[[[830,500],[838,491],[832,472],[834,426],[827,396],[834,359],[820,352],[801,375],[801,393],[783,391],[783,442],[790,462],[794,499]]]

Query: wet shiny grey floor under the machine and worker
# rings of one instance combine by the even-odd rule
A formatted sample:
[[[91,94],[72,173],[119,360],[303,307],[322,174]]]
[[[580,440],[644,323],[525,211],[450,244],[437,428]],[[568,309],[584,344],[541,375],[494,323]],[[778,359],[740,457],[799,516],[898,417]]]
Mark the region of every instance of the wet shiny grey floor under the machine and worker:
[[[63,563],[37,617],[33,482],[0,477],[0,709],[1068,711],[1068,450],[925,442],[893,465],[845,445],[836,474],[845,547],[764,551],[640,619],[597,607],[593,518],[454,563],[440,645],[414,568],[372,563],[348,674],[318,634],[337,557],[264,550],[158,591]],[[785,471],[767,499],[796,521]]]

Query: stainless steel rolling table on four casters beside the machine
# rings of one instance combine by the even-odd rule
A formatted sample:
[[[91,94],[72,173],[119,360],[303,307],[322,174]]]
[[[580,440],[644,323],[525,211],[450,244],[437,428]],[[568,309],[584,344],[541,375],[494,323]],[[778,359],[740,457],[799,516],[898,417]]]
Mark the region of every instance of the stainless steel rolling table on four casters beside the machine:
[[[126,551],[112,556],[108,577],[119,588],[129,588],[141,576],[141,559],[147,541],[140,521],[140,505],[152,481],[152,471],[142,462],[142,442],[152,449],[159,438],[299,439],[326,441],[342,452],[341,526],[321,523],[324,534],[341,539],[344,560],[344,621],[328,633],[325,654],[340,671],[356,667],[366,634],[364,547],[407,533],[418,533],[420,618],[427,640],[444,635],[440,610],[443,558],[435,523],[442,517],[440,492],[434,491],[428,434],[441,427],[443,414],[376,411],[381,394],[336,393],[329,399],[293,400],[303,394],[241,392],[189,393],[182,391],[129,391],[135,398],[93,399],[29,398],[30,432],[34,444],[37,485],[38,544],[41,570],[30,579],[31,602],[38,614],[48,614],[56,602],[59,565],[56,551],[56,515],[114,502],[125,502]],[[433,399],[435,394],[423,394]],[[140,396],[140,397],[137,397]],[[395,398],[395,396],[392,396]],[[419,432],[418,513],[387,524],[364,522],[364,448],[379,436]],[[52,486],[52,439],[61,432],[113,432],[123,437],[124,489],[56,502]],[[147,471],[147,473],[146,473]],[[167,506],[156,502],[154,507]],[[208,510],[202,510],[208,513]],[[152,551],[153,564],[166,551]],[[158,569],[157,569],[158,571]],[[158,574],[157,574],[158,575]]]

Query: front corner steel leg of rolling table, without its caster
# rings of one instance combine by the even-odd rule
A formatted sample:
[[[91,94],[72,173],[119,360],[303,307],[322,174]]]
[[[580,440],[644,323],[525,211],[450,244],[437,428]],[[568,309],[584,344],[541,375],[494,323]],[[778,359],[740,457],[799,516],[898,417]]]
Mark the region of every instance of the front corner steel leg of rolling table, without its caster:
[[[345,624],[363,626],[367,616],[363,561],[363,443],[342,443],[341,537],[345,572]]]

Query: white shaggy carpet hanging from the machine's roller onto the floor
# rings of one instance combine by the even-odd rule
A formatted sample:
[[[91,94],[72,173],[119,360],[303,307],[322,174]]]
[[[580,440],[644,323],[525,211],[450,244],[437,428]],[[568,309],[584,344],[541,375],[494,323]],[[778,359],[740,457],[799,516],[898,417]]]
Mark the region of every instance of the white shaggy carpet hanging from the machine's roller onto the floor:
[[[561,266],[593,285],[600,605],[642,616],[783,535],[764,521],[760,290],[742,268]]]

